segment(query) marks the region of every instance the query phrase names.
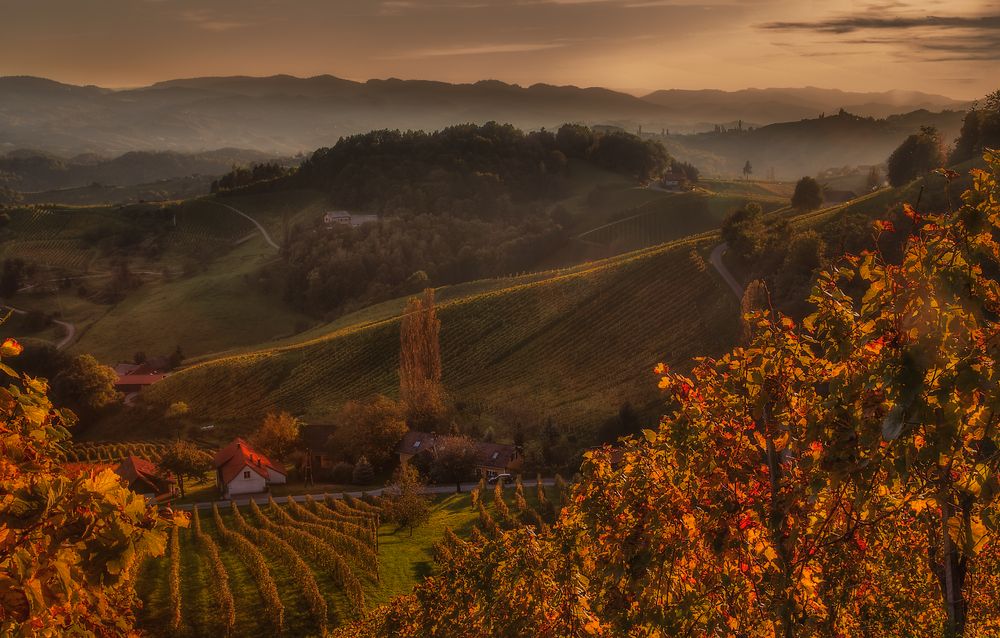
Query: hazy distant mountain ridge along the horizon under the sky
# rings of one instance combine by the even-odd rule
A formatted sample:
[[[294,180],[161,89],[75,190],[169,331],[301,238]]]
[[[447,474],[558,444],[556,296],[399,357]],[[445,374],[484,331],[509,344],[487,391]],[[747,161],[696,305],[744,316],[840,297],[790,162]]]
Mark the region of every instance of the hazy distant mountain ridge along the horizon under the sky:
[[[355,82],[332,75],[276,75],[182,78],[112,90],[8,76],[0,77],[0,153],[37,148],[72,156],[236,147],[288,154],[379,128],[431,130],[496,120],[524,129],[582,122],[692,130],[740,119],[760,125],[816,117],[852,105],[852,112],[878,117],[967,106],[923,93],[814,88],[668,90],[636,97],[599,87],[521,87],[496,80]]]

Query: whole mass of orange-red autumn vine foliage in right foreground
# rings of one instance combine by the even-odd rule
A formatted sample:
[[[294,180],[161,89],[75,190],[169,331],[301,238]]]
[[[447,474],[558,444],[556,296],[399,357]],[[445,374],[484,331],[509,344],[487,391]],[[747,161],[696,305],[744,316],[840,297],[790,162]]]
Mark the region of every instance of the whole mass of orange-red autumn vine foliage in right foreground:
[[[822,270],[800,324],[758,314],[749,343],[690,375],[657,366],[660,427],[588,453],[549,532],[450,541],[360,635],[996,635],[986,159],[957,212],[906,208],[900,260]]]

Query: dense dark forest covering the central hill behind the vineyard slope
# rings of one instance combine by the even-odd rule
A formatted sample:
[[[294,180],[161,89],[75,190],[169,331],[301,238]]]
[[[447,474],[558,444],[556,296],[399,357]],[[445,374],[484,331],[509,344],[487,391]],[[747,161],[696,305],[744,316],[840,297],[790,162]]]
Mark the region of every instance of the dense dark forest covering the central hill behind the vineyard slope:
[[[428,285],[527,270],[566,239],[566,220],[551,204],[567,193],[571,159],[637,180],[670,161],[658,143],[576,125],[525,133],[470,124],[345,138],[293,175],[256,187],[318,188],[334,205],[379,220],[294,226],[284,259],[262,278],[283,283],[296,308],[324,316]]]

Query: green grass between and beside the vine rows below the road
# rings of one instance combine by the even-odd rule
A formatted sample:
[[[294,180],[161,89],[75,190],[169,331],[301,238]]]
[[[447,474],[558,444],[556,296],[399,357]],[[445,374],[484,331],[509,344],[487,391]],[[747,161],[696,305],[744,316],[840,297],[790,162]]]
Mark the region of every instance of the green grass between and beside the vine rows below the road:
[[[516,499],[508,489],[504,495],[507,507],[516,515]],[[546,499],[558,498],[555,488],[546,488]],[[539,506],[536,489],[524,489],[527,506],[536,511],[545,511]],[[485,494],[483,502],[486,510],[500,521],[498,509],[493,503],[493,494]],[[290,539],[294,547],[300,545],[295,541],[297,532],[293,528],[305,529],[314,537],[327,538],[324,532],[318,531],[315,525],[327,526],[329,529],[340,529],[345,533],[354,530],[354,538],[363,545],[373,547],[373,540],[350,513],[350,508],[338,504],[339,509],[331,509],[331,505],[323,503],[322,499],[312,504],[300,504],[298,508],[287,505],[263,505],[259,512],[267,521],[261,521],[252,513],[248,506],[240,507],[240,515],[253,528],[270,529],[281,538]],[[276,512],[273,508],[278,507]],[[305,513],[303,513],[305,510]],[[355,511],[360,516],[364,512]],[[229,532],[243,535],[248,540],[253,539],[254,532],[241,530],[232,511],[226,507],[220,509],[223,527]],[[291,518],[287,518],[290,516]],[[317,523],[317,516],[322,523]],[[388,602],[394,596],[410,591],[413,585],[430,574],[434,569],[433,548],[445,532],[450,529],[460,538],[467,538],[479,518],[478,510],[472,506],[468,493],[439,496],[431,501],[430,520],[413,530],[399,530],[395,525],[382,524],[378,528],[377,574],[371,564],[362,564],[358,557],[349,551],[339,550],[346,564],[350,566],[360,581],[364,605],[366,609],[374,608]],[[256,636],[311,636],[317,635],[315,613],[304,595],[302,574],[294,569],[284,556],[275,553],[272,546],[256,543],[263,554],[266,570],[273,579],[277,597],[284,608],[284,627],[280,633],[274,625],[275,614],[271,613],[258,583],[251,572],[244,555],[233,543],[227,543],[221,533],[212,510],[201,510],[199,519],[202,532],[212,539],[218,547],[219,557],[224,567],[229,591],[232,593],[235,610],[234,637]],[[282,521],[282,522],[278,522]],[[345,521],[347,523],[345,524]],[[351,521],[354,521],[353,523]],[[306,525],[299,523],[307,522]],[[259,540],[259,539],[258,539]],[[151,559],[146,562],[139,573],[137,593],[143,602],[139,613],[140,628],[152,636],[203,636],[222,635],[225,631],[224,614],[221,613],[216,590],[222,586],[211,569],[210,556],[203,545],[198,543],[194,530],[189,527],[179,533],[180,541],[180,607],[182,622],[176,632],[170,628],[170,617],[173,609],[173,598],[170,593],[170,572],[173,556]],[[293,548],[294,548],[293,547]],[[338,551],[329,545],[327,551]],[[296,550],[296,553],[299,553]],[[307,552],[300,553],[307,558]],[[345,587],[338,584],[341,579],[324,565],[315,560],[305,560],[308,565],[308,576],[313,578],[320,591],[327,609],[327,622],[333,628],[343,622],[355,618],[357,606],[346,594]]]

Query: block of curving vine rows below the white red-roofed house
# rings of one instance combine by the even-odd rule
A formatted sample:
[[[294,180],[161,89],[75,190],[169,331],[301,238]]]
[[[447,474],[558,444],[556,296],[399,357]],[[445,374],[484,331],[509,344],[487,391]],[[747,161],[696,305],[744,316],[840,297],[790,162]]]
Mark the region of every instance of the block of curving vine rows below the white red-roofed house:
[[[310,636],[364,613],[379,586],[379,508],[359,499],[197,510],[140,572],[154,636]]]

